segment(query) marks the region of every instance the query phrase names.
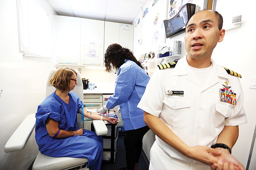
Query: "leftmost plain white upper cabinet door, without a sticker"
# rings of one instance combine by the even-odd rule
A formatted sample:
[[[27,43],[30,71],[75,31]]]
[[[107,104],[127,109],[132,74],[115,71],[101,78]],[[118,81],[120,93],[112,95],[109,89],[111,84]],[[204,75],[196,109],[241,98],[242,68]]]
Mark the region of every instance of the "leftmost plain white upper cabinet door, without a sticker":
[[[57,65],[80,65],[80,18],[54,16]]]

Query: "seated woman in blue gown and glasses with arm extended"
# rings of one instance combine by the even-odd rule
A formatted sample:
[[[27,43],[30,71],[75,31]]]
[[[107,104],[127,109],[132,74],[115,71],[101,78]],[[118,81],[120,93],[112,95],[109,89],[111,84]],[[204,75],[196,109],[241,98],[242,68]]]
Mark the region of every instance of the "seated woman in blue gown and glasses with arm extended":
[[[42,154],[52,157],[88,158],[90,170],[100,170],[103,138],[96,133],[79,129],[77,113],[83,112],[83,102],[70,91],[77,84],[77,73],[71,68],[59,68],[50,84],[57,90],[38,106],[36,112],[36,142]],[[116,119],[83,112],[90,119],[103,119],[116,123]]]

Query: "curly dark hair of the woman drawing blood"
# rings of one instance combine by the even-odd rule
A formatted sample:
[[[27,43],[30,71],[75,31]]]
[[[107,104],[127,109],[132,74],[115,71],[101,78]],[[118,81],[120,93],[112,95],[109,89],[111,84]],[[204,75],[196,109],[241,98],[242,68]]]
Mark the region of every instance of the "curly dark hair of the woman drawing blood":
[[[116,71],[123,65],[124,60],[128,59],[135,62],[138,66],[142,68],[142,65],[133,55],[133,52],[130,49],[123,48],[119,44],[111,44],[106,50],[105,53],[105,67],[106,72],[111,72],[111,68],[116,69]],[[112,65],[111,65],[112,64]]]

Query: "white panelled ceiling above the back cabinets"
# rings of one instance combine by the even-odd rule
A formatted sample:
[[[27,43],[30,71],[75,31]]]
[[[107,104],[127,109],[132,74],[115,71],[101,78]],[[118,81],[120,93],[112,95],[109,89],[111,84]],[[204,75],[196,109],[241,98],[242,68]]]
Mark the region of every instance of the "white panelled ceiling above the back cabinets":
[[[57,14],[131,24],[147,0],[47,0]]]

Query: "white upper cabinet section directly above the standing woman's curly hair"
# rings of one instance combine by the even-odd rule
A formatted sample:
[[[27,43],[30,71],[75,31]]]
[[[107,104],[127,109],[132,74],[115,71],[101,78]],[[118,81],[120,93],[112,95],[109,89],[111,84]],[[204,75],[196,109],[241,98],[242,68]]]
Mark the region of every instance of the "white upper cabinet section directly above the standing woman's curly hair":
[[[114,43],[133,51],[133,25],[105,21],[104,54]]]

